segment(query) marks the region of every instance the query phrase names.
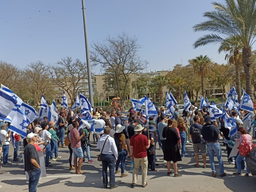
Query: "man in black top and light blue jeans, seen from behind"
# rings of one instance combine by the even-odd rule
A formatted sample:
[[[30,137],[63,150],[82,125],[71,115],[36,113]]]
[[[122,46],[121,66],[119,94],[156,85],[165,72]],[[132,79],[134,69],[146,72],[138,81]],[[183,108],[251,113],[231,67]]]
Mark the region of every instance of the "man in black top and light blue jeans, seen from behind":
[[[216,153],[219,168],[220,168],[220,177],[224,177],[227,174],[224,173],[224,165],[222,160],[222,153],[220,148],[219,140],[219,129],[211,124],[211,118],[209,116],[204,117],[205,124],[202,127],[201,134],[203,139],[206,141],[207,152],[209,156],[209,160],[211,163],[212,176],[216,177],[216,169],[214,166],[214,152]]]

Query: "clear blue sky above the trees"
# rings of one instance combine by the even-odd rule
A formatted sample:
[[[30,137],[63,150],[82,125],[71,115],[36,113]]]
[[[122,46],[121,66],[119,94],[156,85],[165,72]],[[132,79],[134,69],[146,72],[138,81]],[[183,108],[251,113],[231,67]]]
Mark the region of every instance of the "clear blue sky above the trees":
[[[223,2],[223,0],[216,0]],[[209,0],[85,0],[90,44],[109,34],[138,37],[147,70],[168,70],[200,54],[226,63],[218,45],[193,49],[203,34],[192,26],[213,10]],[[37,60],[56,63],[63,57],[86,61],[81,0],[1,0],[0,60],[24,68]],[[97,69],[93,72],[99,73]]]

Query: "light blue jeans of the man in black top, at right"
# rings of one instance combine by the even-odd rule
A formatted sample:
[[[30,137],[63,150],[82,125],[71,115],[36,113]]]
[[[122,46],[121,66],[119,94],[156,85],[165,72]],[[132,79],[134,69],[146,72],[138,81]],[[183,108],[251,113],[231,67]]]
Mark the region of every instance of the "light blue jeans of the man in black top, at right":
[[[208,156],[209,156],[209,160],[211,163],[211,170],[214,173],[216,173],[215,166],[214,166],[214,152],[215,152],[217,159],[219,161],[220,174],[223,174],[224,173],[224,165],[223,165],[223,161],[222,161],[220,143],[207,143],[207,151],[208,151]]]

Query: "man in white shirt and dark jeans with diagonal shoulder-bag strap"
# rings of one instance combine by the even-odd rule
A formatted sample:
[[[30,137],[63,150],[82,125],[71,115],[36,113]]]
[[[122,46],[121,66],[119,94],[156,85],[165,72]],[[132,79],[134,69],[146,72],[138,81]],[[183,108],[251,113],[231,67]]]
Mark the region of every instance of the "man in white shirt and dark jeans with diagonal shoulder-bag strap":
[[[102,151],[102,178],[104,188],[108,188],[108,173],[107,169],[109,167],[109,188],[117,188],[118,185],[115,184],[115,162],[118,158],[118,152],[115,145],[115,139],[109,136],[111,132],[110,127],[104,128],[104,135],[98,139],[97,148]],[[105,146],[103,147],[105,143]]]

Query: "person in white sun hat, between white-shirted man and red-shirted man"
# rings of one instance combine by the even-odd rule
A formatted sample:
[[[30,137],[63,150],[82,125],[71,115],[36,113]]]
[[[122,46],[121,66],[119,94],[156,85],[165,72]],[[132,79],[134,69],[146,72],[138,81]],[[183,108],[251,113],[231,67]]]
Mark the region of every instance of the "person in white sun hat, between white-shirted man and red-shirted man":
[[[128,153],[128,156],[130,156],[129,150],[125,143],[125,135],[122,133],[124,129],[125,129],[125,126],[122,126],[120,124],[116,125],[116,132],[114,134],[115,145],[118,152],[118,158],[115,164],[115,174],[120,173],[120,170],[118,170],[118,168],[121,162],[121,177],[128,176],[127,174],[124,173],[124,168],[125,168],[125,159],[126,159],[127,153]]]

